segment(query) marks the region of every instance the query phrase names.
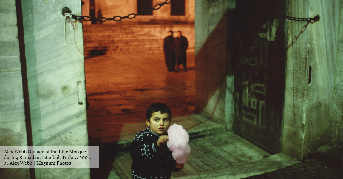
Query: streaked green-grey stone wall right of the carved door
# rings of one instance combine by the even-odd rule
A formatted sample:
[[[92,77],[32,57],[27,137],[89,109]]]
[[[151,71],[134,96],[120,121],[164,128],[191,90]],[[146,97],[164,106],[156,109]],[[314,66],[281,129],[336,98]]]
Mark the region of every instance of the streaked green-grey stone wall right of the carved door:
[[[288,3],[290,16],[320,15],[319,22],[307,26],[287,22],[282,151],[297,158],[323,145],[342,147],[342,4],[342,0]]]

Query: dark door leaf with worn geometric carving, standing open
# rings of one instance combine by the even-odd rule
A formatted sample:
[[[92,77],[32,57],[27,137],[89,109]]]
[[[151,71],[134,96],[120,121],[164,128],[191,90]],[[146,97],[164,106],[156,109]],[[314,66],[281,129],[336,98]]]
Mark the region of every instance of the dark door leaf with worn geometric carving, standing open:
[[[284,4],[273,2],[274,11]],[[268,14],[258,1],[238,1],[236,10],[235,132],[277,153],[284,98],[284,20]]]

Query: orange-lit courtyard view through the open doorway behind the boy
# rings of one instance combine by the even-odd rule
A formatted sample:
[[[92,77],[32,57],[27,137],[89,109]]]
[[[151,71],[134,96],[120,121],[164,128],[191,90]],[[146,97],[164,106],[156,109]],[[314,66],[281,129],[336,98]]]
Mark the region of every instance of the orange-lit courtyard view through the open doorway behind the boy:
[[[102,1],[84,2],[85,15],[90,13],[89,3],[96,12],[101,9],[103,16],[113,16],[113,8],[122,16],[126,11],[137,11],[137,1],[114,7],[104,6]],[[194,9],[190,10],[194,7],[188,5],[186,15],[177,17],[170,14],[170,8],[165,4],[153,15],[120,22],[84,22],[90,143],[132,140],[146,128],[146,108],[155,102],[166,103],[173,118],[194,114]],[[161,20],[166,16],[168,21]],[[182,65],[179,73],[167,71],[163,39],[170,30],[180,30],[188,39],[186,72]]]

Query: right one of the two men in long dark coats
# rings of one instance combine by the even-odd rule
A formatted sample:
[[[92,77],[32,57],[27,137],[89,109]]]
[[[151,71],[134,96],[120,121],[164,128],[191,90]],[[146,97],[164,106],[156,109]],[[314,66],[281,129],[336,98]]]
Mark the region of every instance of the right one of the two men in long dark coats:
[[[186,37],[182,36],[181,31],[177,31],[177,37],[174,38],[173,49],[175,51],[175,62],[176,68],[175,72],[179,72],[179,65],[184,66],[184,71],[186,68],[186,49],[188,47],[188,40]]]

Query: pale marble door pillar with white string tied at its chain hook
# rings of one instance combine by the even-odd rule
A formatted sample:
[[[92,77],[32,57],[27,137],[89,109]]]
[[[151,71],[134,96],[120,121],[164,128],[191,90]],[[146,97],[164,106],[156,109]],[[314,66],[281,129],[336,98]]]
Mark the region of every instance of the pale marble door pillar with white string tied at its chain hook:
[[[22,0],[34,146],[88,145],[82,24],[67,23],[64,34],[63,7],[81,15],[81,1]],[[90,169],[35,168],[35,176],[90,178]]]

